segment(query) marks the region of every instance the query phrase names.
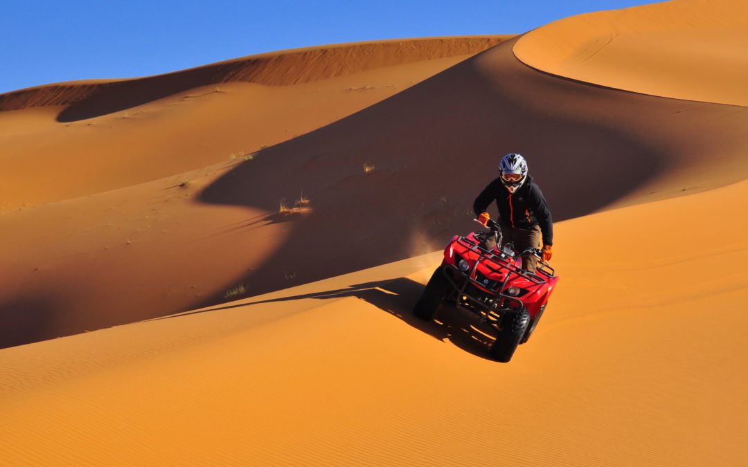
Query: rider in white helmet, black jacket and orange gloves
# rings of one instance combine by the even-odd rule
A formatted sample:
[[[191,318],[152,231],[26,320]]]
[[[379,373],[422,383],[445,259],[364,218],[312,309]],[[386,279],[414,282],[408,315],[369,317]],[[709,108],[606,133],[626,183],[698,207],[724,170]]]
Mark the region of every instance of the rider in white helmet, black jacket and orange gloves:
[[[522,155],[510,152],[501,159],[499,170],[499,178],[489,183],[473,202],[478,221],[486,225],[491,218],[486,209],[495,200],[503,243],[511,241],[515,249],[524,251],[538,248],[542,239],[543,261],[550,261],[554,244],[551,210],[533,177],[527,174],[527,161]],[[488,240],[491,241],[490,238]],[[492,245],[486,246],[490,249]],[[532,255],[523,256],[524,269],[533,272],[537,263]]]

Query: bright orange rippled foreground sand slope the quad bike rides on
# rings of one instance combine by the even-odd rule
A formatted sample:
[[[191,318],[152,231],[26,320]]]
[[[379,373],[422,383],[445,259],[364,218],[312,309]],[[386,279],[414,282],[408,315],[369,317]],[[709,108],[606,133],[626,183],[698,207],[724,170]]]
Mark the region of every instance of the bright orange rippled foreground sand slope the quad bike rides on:
[[[695,247],[713,229],[688,214],[732,217],[722,200],[746,197],[741,182],[560,223],[560,287],[508,365],[481,357],[468,321],[409,315],[438,254],[0,350],[0,451],[35,465],[743,465],[748,288],[733,265],[748,225]]]

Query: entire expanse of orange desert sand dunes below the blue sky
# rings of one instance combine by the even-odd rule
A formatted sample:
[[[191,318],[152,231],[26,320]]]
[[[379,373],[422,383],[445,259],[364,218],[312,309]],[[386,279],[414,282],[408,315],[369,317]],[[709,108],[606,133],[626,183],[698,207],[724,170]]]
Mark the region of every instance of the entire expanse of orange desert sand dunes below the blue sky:
[[[0,96],[0,464],[744,465],[744,90],[643,72],[740,75],[710,5]],[[514,150],[561,281],[501,365],[410,309]]]

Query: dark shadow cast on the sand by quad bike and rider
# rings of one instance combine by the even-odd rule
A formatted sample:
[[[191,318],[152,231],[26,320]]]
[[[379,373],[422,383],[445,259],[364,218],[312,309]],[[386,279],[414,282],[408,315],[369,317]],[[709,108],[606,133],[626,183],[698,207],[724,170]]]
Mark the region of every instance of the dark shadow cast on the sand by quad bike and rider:
[[[442,307],[437,316],[432,321],[423,321],[417,318],[411,312],[414,303],[423,292],[423,284],[407,277],[398,277],[396,279],[386,279],[381,281],[365,282],[362,284],[350,285],[346,288],[339,288],[328,291],[315,292],[312,294],[299,294],[289,297],[274,298],[270,300],[260,300],[250,303],[237,303],[228,306],[217,306],[209,309],[201,309],[194,312],[185,312],[178,315],[156,318],[156,320],[180,318],[188,315],[196,315],[207,312],[217,312],[226,309],[239,309],[263,303],[289,302],[294,300],[316,299],[330,300],[344,297],[355,297],[364,300],[367,303],[376,306],[383,312],[398,318],[408,326],[426,333],[439,341],[449,342],[473,356],[482,359],[489,359],[488,346],[492,340],[485,333],[490,332],[479,329],[477,321],[458,312],[452,307]]]

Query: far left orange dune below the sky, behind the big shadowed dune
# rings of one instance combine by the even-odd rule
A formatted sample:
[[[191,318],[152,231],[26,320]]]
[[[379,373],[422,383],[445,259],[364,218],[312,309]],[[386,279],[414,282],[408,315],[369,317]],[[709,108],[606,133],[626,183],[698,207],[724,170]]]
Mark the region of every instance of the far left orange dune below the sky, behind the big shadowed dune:
[[[0,210],[256,152],[392,96],[506,37],[340,44],[4,94]]]

